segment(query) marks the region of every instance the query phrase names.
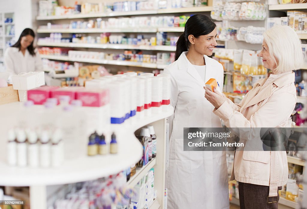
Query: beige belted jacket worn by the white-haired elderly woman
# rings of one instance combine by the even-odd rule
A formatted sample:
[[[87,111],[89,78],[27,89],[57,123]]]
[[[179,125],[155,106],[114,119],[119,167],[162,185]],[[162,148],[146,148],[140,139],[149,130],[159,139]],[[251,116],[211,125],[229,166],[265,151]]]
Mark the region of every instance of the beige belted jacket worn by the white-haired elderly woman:
[[[297,100],[294,78],[294,72],[269,73],[255,83],[239,104],[227,100],[214,113],[227,127],[291,127],[289,117]],[[244,151],[235,152],[231,180],[270,186],[269,196],[277,196],[277,187],[288,180],[286,151],[247,149],[245,146]]]

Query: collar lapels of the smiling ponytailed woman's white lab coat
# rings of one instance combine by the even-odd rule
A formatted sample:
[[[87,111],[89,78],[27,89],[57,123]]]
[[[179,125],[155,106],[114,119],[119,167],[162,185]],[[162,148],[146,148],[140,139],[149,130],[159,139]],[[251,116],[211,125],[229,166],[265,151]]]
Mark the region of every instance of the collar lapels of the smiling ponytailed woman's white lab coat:
[[[178,58],[178,69],[187,70],[188,74],[190,74],[193,78],[199,81],[202,85],[204,85],[204,81],[200,78],[200,75],[197,73],[195,67],[191,64],[191,62],[186,57],[188,52],[182,52],[180,57]],[[205,64],[206,64],[206,73],[208,70],[212,69],[212,66],[217,66],[216,62],[212,62],[212,60],[204,55]]]

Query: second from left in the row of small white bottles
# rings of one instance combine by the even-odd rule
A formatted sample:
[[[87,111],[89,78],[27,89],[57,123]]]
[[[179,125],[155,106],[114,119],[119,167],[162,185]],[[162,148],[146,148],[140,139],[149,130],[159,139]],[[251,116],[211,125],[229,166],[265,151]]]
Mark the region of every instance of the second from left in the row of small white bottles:
[[[27,166],[27,143],[25,143],[26,135],[22,129],[16,130],[17,136],[17,165],[21,167]]]

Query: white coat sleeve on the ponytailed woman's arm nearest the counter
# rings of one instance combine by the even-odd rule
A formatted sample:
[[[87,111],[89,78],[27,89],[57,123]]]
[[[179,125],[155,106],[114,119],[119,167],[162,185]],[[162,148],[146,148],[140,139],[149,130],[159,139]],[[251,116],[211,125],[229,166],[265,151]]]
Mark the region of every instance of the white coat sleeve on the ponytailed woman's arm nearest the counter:
[[[170,78],[171,78],[171,98],[170,98],[170,104],[173,106],[174,108],[174,112],[175,112],[175,108],[177,105],[177,98],[178,98],[178,93],[179,93],[179,88],[178,88],[178,83],[176,78],[172,75],[172,73],[169,71],[169,69],[165,68],[163,70],[163,73],[165,74],[169,74]],[[174,120],[175,115],[171,115],[167,118],[167,122],[169,123],[169,137],[172,134],[173,131],[173,120]]]

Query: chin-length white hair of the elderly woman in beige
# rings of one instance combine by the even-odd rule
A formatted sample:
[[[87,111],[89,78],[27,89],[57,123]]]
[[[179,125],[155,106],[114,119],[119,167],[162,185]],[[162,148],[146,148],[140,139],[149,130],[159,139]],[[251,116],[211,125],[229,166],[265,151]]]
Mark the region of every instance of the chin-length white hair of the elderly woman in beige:
[[[274,26],[264,32],[263,38],[269,48],[271,57],[278,60],[278,62],[275,60],[278,73],[301,68],[303,64],[301,40],[292,28],[289,26]]]

